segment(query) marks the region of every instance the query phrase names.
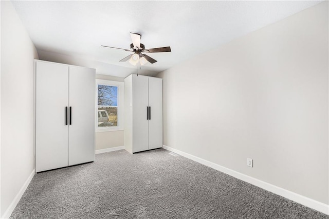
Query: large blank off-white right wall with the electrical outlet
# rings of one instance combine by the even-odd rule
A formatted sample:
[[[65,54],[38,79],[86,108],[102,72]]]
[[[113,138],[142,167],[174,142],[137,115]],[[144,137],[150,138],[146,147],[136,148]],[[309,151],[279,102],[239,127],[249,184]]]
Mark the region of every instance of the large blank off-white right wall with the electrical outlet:
[[[328,204],[328,2],[158,77],[164,145]]]

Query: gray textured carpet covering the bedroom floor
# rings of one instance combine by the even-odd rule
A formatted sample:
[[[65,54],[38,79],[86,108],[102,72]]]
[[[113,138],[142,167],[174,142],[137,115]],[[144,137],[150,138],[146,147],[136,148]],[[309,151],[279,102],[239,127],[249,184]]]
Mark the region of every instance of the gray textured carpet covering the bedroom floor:
[[[164,149],[36,174],[10,218],[329,218]]]

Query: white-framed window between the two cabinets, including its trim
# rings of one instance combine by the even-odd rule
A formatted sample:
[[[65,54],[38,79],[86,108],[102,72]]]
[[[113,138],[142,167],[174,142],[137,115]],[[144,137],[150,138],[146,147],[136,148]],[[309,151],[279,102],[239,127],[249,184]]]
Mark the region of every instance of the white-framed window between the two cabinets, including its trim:
[[[96,132],[123,130],[123,82],[96,79]]]

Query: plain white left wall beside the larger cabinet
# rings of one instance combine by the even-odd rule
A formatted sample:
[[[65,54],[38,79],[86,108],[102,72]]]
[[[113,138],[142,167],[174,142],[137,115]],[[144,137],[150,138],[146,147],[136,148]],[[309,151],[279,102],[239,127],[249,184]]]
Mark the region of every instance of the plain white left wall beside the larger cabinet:
[[[1,1],[1,207],[34,169],[33,59],[38,53],[10,1]]]

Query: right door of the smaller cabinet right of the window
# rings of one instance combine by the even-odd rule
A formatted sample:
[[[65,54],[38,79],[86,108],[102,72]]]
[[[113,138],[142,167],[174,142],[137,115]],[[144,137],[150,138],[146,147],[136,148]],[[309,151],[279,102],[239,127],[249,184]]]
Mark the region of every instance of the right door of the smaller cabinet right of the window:
[[[162,147],[162,79],[149,77],[149,149]]]

